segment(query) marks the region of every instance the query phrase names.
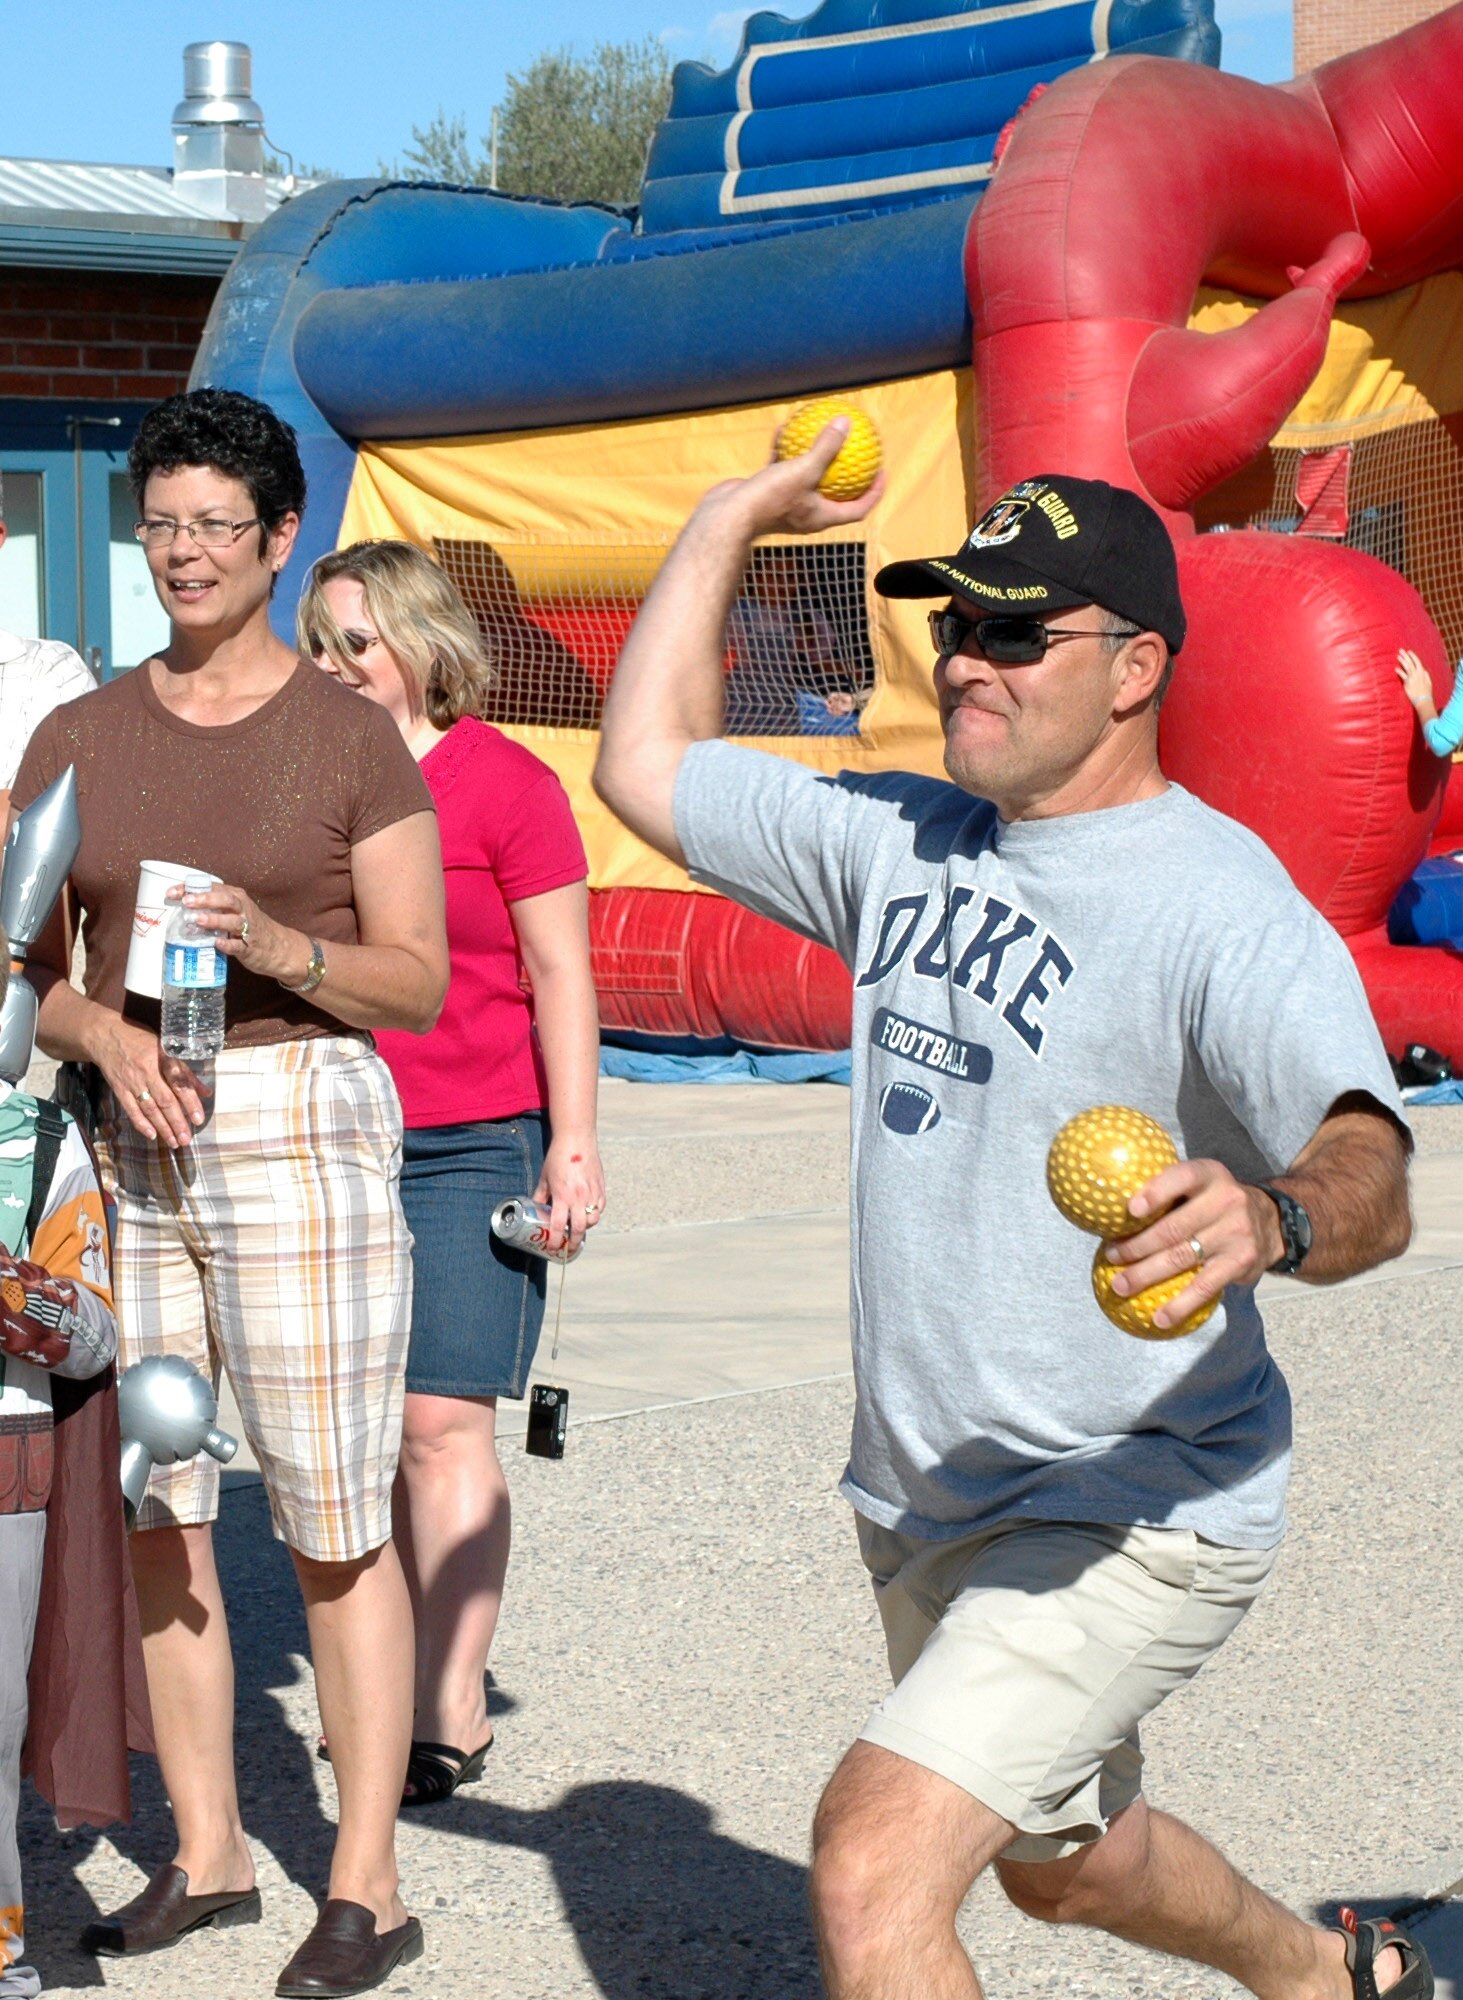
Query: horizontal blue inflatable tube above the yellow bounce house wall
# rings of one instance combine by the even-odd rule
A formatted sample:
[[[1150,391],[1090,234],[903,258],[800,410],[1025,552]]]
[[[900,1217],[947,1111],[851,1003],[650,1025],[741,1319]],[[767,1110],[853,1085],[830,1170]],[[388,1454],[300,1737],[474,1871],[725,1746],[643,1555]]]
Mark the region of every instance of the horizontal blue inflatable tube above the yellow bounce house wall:
[[[949,368],[969,356],[971,206],[612,268],[322,292],[294,362],[354,438],[610,422]]]

